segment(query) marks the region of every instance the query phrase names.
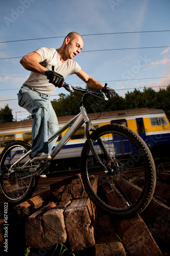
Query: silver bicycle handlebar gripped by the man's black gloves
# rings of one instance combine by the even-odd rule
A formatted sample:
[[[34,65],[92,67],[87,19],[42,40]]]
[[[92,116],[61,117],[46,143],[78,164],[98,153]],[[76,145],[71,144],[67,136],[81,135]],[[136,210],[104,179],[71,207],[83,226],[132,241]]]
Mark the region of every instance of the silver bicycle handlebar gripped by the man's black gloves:
[[[105,87],[106,86],[107,86],[107,83],[105,83]],[[70,84],[68,84],[66,82],[64,82],[63,87],[65,88],[66,91],[68,91],[70,93],[73,93],[74,91],[81,92],[81,93],[84,93],[84,94],[89,93],[89,94],[93,94],[97,97],[103,96],[104,100],[106,100],[106,101],[108,100],[108,98],[106,97],[104,92],[98,93],[98,92],[90,91],[88,89],[76,88],[76,87],[71,86]]]

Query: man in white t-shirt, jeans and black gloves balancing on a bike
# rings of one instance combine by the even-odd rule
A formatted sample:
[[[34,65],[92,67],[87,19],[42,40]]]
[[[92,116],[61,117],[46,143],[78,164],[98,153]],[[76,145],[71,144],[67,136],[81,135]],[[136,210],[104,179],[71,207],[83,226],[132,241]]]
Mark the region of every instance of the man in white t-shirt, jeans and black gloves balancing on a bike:
[[[22,57],[21,65],[31,71],[18,93],[18,104],[32,114],[32,159],[51,159],[52,147],[56,141],[48,144],[48,138],[58,129],[58,120],[50,101],[50,95],[56,87],[61,88],[64,78],[76,74],[89,87],[103,90],[110,98],[114,90],[103,85],[86,74],[73,59],[81,52],[84,42],[80,34],[70,32],[59,49],[39,48]]]

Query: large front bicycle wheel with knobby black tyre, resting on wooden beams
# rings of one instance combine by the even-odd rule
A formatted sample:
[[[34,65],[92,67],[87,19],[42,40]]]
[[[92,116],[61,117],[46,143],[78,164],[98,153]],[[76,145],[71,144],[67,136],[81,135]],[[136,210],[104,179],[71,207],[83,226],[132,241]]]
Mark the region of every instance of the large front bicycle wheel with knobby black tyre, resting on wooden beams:
[[[128,127],[118,124],[100,127],[91,139],[105,167],[96,162],[86,141],[82,179],[89,197],[117,218],[136,216],[150,203],[155,190],[155,165],[148,146]]]

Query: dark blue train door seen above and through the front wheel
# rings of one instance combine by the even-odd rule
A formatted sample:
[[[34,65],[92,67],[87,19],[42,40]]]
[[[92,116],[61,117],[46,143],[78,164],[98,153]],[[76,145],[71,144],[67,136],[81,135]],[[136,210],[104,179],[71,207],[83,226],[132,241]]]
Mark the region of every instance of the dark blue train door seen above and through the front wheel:
[[[127,120],[126,119],[118,119],[118,120],[112,120],[111,123],[117,123],[120,125],[127,126]],[[116,155],[125,155],[132,153],[132,148],[129,140],[127,140],[124,136],[114,134],[113,136],[114,140],[114,150]]]

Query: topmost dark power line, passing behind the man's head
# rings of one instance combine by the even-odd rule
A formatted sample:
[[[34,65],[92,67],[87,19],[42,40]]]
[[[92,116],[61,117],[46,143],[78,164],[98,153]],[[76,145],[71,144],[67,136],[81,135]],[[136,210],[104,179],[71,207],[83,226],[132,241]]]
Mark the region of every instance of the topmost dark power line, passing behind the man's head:
[[[118,35],[118,34],[135,34],[135,33],[157,33],[157,32],[169,32],[169,31],[170,31],[170,30],[113,32],[113,33],[84,34],[84,35],[81,35],[81,36]],[[3,44],[3,43],[5,43],[5,42],[21,42],[21,41],[42,40],[42,39],[54,39],[54,38],[65,38],[65,36],[53,36],[53,37],[41,37],[41,38],[30,38],[30,39],[20,39],[20,40],[2,41],[2,42],[0,42],[0,44]]]

